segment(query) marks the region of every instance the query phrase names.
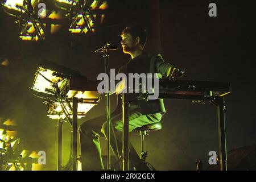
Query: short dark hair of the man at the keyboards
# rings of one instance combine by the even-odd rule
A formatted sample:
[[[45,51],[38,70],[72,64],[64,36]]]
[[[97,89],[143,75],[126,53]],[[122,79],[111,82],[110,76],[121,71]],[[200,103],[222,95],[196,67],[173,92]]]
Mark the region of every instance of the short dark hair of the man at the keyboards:
[[[134,39],[139,37],[139,39],[141,39],[140,43],[142,47],[144,47],[146,44],[147,33],[142,27],[138,27],[138,26],[126,27],[122,31],[122,35],[123,34],[130,34],[131,36],[133,36]]]

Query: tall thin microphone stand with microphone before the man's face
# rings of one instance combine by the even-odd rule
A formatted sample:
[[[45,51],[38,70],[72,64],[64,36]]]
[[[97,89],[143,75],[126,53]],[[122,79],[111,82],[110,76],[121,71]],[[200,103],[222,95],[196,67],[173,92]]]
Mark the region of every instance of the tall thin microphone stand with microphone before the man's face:
[[[117,49],[117,48],[116,48]],[[109,51],[116,50],[110,47],[110,43],[106,43],[102,48],[97,49],[96,53],[101,52],[104,57],[105,64],[105,73],[108,75],[108,85],[110,87],[110,69],[109,69]],[[108,166],[107,169],[111,169],[111,160],[110,160],[110,128],[111,128],[111,119],[110,119],[110,89],[108,87],[108,93],[106,94],[106,118],[107,118],[107,128],[108,128]]]

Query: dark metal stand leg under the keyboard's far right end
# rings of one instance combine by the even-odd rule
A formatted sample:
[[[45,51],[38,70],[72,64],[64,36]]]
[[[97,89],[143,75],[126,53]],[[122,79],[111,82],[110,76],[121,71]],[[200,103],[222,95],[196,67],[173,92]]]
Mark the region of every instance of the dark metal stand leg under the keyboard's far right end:
[[[218,141],[220,146],[220,167],[221,171],[226,171],[226,131],[225,131],[225,104],[223,97],[215,97],[210,101],[218,109]]]

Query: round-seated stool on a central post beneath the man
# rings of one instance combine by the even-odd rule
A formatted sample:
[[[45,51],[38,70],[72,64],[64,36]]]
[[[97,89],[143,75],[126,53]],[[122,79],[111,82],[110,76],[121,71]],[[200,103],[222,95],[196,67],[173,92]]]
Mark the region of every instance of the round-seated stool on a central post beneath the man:
[[[137,127],[134,132],[139,132],[141,135],[141,160],[146,163],[147,151],[144,151],[144,135],[148,135],[149,131],[157,131],[162,129],[161,122],[151,123],[149,125],[144,125],[142,127]]]

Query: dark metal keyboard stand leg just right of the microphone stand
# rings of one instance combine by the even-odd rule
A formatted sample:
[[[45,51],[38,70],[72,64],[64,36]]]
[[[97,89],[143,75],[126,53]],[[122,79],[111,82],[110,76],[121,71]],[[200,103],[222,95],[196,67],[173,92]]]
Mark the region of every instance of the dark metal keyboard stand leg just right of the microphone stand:
[[[127,101],[127,95],[122,93],[122,105],[123,105],[123,143],[122,143],[122,155],[123,155],[123,171],[129,171],[129,102]]]

